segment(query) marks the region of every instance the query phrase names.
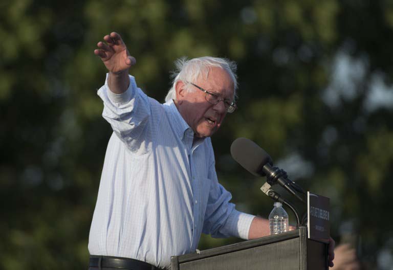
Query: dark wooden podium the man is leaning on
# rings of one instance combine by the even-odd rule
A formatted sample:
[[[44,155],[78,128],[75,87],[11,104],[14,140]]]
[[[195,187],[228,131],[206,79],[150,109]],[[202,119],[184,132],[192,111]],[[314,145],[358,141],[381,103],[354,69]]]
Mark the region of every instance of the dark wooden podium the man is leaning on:
[[[328,270],[328,267],[328,243],[308,239],[306,227],[171,258],[171,270]]]

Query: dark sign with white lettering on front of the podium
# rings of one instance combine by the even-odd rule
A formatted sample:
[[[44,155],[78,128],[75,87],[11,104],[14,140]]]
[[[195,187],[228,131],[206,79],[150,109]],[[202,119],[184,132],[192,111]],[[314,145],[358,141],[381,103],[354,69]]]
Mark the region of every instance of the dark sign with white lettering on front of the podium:
[[[330,199],[307,192],[308,238],[328,242],[330,238]]]

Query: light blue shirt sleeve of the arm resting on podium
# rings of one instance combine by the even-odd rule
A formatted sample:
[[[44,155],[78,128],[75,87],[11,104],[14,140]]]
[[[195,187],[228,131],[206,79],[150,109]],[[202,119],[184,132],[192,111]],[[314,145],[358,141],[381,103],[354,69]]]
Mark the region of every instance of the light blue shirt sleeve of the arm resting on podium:
[[[211,234],[215,238],[234,236],[248,239],[251,222],[255,216],[237,211],[235,205],[229,202],[232,195],[217,181],[214,163],[210,166],[209,178],[212,184],[203,233]]]

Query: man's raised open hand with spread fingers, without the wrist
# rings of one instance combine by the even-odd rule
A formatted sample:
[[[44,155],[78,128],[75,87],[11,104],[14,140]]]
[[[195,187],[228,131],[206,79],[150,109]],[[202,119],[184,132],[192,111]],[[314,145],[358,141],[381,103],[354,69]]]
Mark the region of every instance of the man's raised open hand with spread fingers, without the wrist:
[[[94,54],[101,57],[109,72],[119,74],[136,64],[136,59],[131,56],[125,46],[121,36],[112,32],[104,36],[105,42],[98,42],[98,49],[94,50]]]

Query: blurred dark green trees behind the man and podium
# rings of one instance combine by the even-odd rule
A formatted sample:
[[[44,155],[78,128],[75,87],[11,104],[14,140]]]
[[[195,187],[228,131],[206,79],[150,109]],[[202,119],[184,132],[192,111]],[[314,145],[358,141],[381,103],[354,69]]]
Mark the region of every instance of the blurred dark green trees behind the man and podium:
[[[105,68],[93,51],[111,31],[138,61],[138,85],[161,102],[175,59],[235,60],[238,110],[212,140],[237,208],[265,217],[272,208],[264,179],[230,156],[246,137],[303,188],[331,198],[331,234],[356,247],[364,269],[393,269],[389,0],[2,1],[0,268],[88,264],[111,136],[96,95]],[[234,241],[203,236],[200,248]]]

